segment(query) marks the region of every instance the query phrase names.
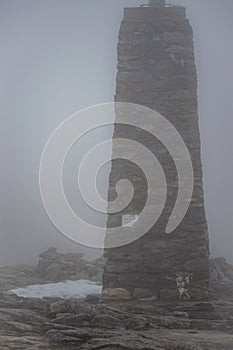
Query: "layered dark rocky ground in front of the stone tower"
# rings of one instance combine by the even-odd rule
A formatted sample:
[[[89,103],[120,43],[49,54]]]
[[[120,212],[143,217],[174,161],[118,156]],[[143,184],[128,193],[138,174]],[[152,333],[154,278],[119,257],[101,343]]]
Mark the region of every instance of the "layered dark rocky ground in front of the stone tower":
[[[34,283],[35,268],[0,269],[0,350],[232,350],[233,267],[210,265],[211,301],[178,303],[23,299],[7,289]]]

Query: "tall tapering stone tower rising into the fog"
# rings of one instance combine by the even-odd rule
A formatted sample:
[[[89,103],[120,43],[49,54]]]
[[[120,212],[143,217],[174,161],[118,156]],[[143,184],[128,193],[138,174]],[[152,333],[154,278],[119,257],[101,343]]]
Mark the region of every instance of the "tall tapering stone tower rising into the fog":
[[[138,140],[156,155],[166,176],[168,196],[160,219],[146,235],[127,246],[105,250],[104,297],[111,299],[114,295],[116,299],[120,290],[119,299],[122,295],[128,298],[128,293],[132,298],[208,298],[209,242],[202,187],[197,77],[193,33],[185,8],[125,9],[118,42],[115,100],[156,110],[175,126],[190,152],[194,191],[182,223],[166,235],[178,187],[174,162],[166,148],[149,134],[116,124],[114,138]],[[113,147],[113,156],[115,152]],[[109,215],[109,229],[121,224],[125,214],[139,213],[146,201],[143,174],[125,160],[112,161],[109,200],[115,199],[115,185],[124,178],[133,183],[135,196],[124,211]]]

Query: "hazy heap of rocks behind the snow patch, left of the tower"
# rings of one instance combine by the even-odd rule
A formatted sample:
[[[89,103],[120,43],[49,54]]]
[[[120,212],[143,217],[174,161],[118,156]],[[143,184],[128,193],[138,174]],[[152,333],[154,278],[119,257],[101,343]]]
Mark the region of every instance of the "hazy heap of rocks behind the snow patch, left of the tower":
[[[37,266],[1,267],[0,289],[81,279],[101,283],[103,263],[103,258],[90,262],[83,254],[61,254],[56,248],[49,248],[39,255]]]

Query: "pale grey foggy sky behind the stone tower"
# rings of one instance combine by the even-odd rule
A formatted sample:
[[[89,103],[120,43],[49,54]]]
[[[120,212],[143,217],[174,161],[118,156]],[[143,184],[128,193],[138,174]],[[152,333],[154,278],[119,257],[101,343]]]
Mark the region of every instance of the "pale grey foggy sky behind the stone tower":
[[[169,2],[186,6],[194,29],[211,253],[233,262],[233,2]],[[50,222],[39,193],[39,163],[62,121],[82,108],[113,101],[123,8],[142,3],[0,1],[0,265],[35,263],[50,246],[89,258],[101,253],[69,241]],[[92,142],[111,132],[98,131]],[[68,160],[67,196],[74,207],[76,165],[89,146],[83,140]],[[106,195],[107,171],[103,176]],[[106,217],[96,220],[105,224]]]

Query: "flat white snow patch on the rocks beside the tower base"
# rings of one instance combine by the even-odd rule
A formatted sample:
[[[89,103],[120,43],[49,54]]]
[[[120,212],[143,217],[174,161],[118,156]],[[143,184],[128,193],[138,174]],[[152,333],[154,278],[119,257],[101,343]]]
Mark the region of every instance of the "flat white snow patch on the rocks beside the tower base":
[[[102,286],[95,282],[79,280],[52,284],[34,284],[25,288],[12,289],[11,292],[23,298],[85,298],[90,294],[101,294]]]

